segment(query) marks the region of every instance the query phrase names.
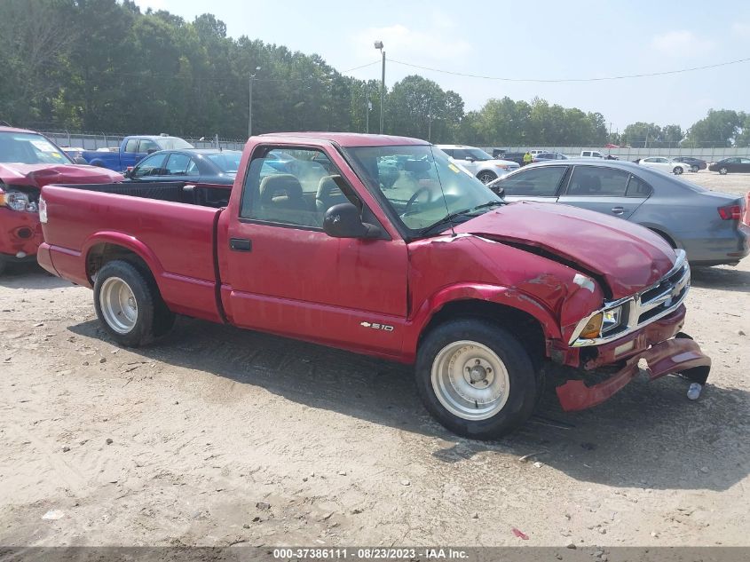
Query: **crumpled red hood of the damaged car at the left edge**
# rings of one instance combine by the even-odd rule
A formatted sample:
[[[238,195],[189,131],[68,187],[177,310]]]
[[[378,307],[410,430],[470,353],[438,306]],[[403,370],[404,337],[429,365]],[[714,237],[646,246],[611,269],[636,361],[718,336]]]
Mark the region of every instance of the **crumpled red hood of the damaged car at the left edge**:
[[[8,186],[41,188],[48,184],[104,184],[122,179],[122,174],[97,166],[0,162],[0,181]]]

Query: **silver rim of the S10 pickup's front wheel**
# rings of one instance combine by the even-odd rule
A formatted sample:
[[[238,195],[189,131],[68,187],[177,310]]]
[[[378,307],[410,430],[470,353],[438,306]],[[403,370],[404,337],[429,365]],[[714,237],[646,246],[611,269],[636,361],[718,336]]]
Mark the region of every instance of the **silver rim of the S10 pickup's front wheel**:
[[[432,362],[432,390],[451,414],[464,420],[486,420],[508,401],[510,378],[497,353],[478,342],[446,345]]]

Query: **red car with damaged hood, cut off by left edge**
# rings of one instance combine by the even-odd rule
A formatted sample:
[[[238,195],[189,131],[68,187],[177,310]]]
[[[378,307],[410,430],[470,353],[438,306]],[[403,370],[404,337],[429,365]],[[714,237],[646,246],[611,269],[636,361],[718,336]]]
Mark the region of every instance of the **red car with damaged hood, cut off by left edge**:
[[[0,127],[0,273],[9,263],[36,260],[43,240],[38,212],[43,186],[120,180],[113,171],[75,165],[39,133]]]

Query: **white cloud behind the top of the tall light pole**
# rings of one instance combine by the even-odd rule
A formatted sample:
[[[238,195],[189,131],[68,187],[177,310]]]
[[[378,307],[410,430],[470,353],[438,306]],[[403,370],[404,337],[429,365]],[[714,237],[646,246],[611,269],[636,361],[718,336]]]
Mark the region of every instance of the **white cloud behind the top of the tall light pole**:
[[[457,37],[454,20],[440,12],[434,12],[430,20],[420,21],[419,29],[403,24],[382,28],[363,29],[350,37],[358,59],[377,59],[373,44],[383,41],[383,51],[391,59],[414,64],[436,64],[445,67],[446,61],[460,62],[472,50],[469,41]]]

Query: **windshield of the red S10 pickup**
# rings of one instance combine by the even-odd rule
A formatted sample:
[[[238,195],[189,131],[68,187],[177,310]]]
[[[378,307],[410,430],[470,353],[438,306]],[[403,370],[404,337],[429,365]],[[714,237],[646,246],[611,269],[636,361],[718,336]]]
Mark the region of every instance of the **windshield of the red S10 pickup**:
[[[367,187],[383,199],[410,234],[438,234],[502,200],[432,146],[347,148]],[[434,231],[434,232],[433,232]]]

